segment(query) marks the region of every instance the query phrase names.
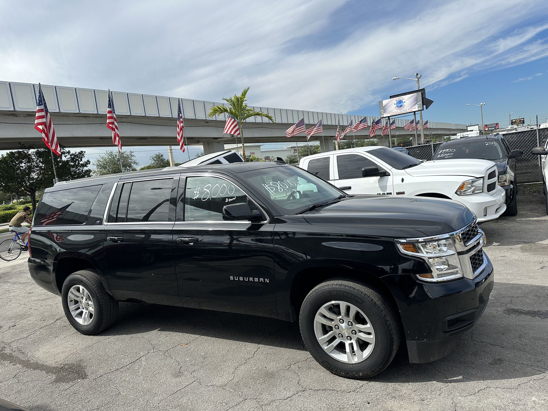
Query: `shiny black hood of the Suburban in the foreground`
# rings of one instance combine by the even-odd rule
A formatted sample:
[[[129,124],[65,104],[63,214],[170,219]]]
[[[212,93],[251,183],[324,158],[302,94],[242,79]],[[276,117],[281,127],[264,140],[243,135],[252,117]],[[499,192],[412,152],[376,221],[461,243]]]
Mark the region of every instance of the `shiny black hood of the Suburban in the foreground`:
[[[412,229],[425,236],[460,230],[476,218],[453,200],[391,196],[356,196],[303,216],[310,224]]]

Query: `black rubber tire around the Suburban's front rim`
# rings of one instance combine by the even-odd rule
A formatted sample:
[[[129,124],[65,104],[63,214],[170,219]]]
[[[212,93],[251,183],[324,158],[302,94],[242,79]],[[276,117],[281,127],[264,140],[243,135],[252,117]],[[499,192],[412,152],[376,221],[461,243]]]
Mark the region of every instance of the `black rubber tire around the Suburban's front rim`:
[[[318,310],[330,301],[355,305],[367,315],[375,332],[375,345],[361,362],[345,363],[333,358],[318,343],[314,318]],[[370,378],[392,362],[401,340],[401,328],[389,301],[375,289],[352,280],[334,279],[318,284],[302,302],[299,324],[302,340],[312,357],[331,373],[345,378]]]

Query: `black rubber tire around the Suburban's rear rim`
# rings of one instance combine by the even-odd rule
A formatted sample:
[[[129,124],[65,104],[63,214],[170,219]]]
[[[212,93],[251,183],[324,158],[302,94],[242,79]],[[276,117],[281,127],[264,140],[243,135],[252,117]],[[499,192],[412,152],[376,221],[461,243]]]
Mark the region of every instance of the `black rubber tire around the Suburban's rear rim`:
[[[83,286],[92,297],[94,314],[92,321],[87,325],[76,321],[68,309],[68,292],[76,285]],[[99,276],[92,270],[77,271],[68,276],[61,290],[61,301],[68,322],[79,333],[85,335],[99,334],[112,326],[118,316],[118,301],[105,291]]]

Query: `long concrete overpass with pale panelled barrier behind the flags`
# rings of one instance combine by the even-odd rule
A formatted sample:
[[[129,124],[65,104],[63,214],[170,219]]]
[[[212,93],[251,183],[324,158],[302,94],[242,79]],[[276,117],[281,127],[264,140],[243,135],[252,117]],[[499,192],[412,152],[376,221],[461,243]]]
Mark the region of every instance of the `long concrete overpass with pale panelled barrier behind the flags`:
[[[110,147],[112,137],[106,128],[107,90],[64,87],[42,84],[42,90],[53,119],[59,143],[65,147]],[[0,81],[0,150],[18,149],[19,143],[42,145],[41,135],[34,128],[36,96],[38,84]],[[123,146],[177,145],[175,138],[177,105],[181,103],[185,119],[185,138],[189,145],[203,145],[204,152],[220,151],[224,143],[235,142],[229,135],[222,135],[225,116],[207,118],[213,105],[220,102],[192,100],[150,94],[111,92],[113,95],[118,127]],[[363,116],[350,116],[338,113],[276,109],[254,106],[255,110],[268,112],[275,118],[250,118],[243,126],[244,141],[295,142],[306,141],[306,136],[286,138],[290,125],[305,119],[307,127],[323,120],[324,139],[321,135],[312,136],[311,141],[319,141],[322,151],[332,150],[337,124],[341,128],[350,121],[358,122]],[[379,117],[368,116],[371,124]],[[393,136],[414,136],[403,126],[408,119],[396,119]],[[433,135],[450,135],[466,130],[465,124],[451,124],[429,121]],[[369,138],[369,129],[360,130],[356,138]],[[375,138],[379,144],[389,145],[387,136],[381,138],[380,131]],[[352,139],[347,134],[346,139]]]

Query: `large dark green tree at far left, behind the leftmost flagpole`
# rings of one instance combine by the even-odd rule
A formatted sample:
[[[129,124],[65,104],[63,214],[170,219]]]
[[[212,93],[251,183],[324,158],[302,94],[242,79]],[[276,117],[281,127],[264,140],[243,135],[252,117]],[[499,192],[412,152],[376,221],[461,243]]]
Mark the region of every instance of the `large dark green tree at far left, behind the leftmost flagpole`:
[[[16,196],[29,196],[32,209],[36,209],[37,193],[51,187],[54,181],[52,158],[49,149],[33,149],[21,146],[20,150],[8,151],[0,156],[0,190]],[[84,160],[84,151],[60,149],[60,156],[53,156],[59,180],[73,180],[89,177],[89,160]]]

